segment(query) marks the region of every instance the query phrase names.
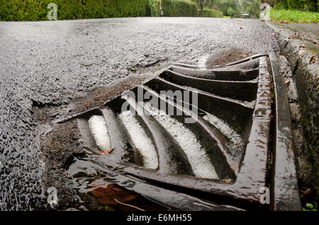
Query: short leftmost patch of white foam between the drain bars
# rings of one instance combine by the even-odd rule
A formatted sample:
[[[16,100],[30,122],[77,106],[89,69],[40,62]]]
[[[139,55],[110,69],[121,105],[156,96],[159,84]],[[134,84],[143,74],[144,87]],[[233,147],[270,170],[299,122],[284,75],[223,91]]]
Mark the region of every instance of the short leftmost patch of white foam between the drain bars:
[[[102,151],[111,149],[108,127],[106,127],[106,122],[103,116],[93,115],[89,118],[89,128],[93,134],[96,145],[99,146]]]

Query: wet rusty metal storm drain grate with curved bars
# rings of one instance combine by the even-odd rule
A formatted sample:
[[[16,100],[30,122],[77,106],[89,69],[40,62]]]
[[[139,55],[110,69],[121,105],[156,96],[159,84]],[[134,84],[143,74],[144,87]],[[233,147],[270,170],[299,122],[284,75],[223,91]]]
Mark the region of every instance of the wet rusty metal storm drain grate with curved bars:
[[[283,180],[291,174],[276,166],[286,157],[278,151],[291,154],[289,124],[275,122],[276,134],[270,139],[272,116],[289,120],[287,109],[281,112],[285,99],[272,109],[273,78],[276,93],[281,90],[276,73],[274,54],[216,69],[173,65],[103,107],[76,115],[81,146],[100,165],[149,184],[153,192],[133,190],[163,204],[180,200],[158,196],[159,189],[204,200],[205,207],[198,209],[254,209],[262,206],[262,194],[270,188],[272,209],[278,202],[286,209],[298,208],[298,193],[291,198],[291,192],[282,190],[291,190],[295,178],[287,188]],[[273,173],[267,180],[271,143]],[[283,163],[293,165],[293,155],[292,164],[286,158]],[[183,201],[174,206],[194,204],[192,197]]]

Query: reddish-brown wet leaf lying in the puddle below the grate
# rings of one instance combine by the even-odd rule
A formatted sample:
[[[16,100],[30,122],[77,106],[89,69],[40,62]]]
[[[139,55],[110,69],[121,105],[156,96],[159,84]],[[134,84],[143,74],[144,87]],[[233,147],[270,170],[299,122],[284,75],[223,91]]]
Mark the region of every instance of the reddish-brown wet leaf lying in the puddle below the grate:
[[[113,184],[92,185],[91,193],[99,202],[111,205],[117,205],[118,202],[129,202],[138,197],[134,192],[116,187]],[[116,199],[116,200],[115,200]]]

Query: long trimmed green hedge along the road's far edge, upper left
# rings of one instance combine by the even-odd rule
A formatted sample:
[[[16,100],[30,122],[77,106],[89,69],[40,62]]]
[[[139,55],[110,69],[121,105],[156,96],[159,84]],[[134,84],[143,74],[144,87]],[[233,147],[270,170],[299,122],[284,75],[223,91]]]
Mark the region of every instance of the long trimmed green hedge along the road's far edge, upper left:
[[[149,0],[0,0],[0,21],[45,21],[57,4],[57,19],[151,16]]]

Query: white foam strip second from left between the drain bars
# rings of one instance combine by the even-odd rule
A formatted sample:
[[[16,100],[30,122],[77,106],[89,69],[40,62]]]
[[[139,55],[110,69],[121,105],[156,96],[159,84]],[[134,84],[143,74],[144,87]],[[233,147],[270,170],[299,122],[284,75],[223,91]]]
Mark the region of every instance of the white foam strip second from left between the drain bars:
[[[138,123],[138,120],[135,119],[130,111],[125,111],[118,115],[118,117],[122,120],[136,149],[138,149],[143,157],[143,166],[145,166],[145,168],[157,168],[158,159],[155,146],[153,145],[152,140],[147,137],[147,134]]]

